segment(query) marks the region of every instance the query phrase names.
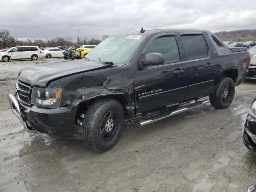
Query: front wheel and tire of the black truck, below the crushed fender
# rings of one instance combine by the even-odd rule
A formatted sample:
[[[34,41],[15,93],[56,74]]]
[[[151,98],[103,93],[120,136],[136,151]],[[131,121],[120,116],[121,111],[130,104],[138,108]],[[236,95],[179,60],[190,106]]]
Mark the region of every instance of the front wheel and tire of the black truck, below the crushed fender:
[[[122,104],[117,100],[104,98],[92,103],[86,111],[82,124],[82,137],[90,149],[105,152],[116,144],[123,127]]]

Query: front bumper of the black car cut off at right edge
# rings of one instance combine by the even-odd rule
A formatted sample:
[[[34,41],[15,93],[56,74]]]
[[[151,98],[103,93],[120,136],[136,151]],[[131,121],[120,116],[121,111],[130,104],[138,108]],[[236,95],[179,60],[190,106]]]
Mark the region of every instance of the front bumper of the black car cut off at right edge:
[[[244,145],[256,154],[256,143],[252,140],[256,137],[256,120],[248,114],[244,125]]]

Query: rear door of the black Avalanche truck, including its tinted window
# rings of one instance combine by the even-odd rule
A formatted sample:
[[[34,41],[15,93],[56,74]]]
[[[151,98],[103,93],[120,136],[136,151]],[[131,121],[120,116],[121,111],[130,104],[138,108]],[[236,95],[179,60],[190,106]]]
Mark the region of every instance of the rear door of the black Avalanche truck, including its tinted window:
[[[184,100],[208,96],[212,93],[218,69],[215,67],[204,34],[180,34],[186,64],[186,86]]]

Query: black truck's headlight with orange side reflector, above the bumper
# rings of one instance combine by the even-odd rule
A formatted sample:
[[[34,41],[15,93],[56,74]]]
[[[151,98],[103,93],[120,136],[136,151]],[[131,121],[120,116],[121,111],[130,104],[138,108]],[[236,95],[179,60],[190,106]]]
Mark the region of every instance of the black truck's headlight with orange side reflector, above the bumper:
[[[33,87],[31,94],[31,103],[37,106],[56,108],[60,106],[61,96],[61,88]]]

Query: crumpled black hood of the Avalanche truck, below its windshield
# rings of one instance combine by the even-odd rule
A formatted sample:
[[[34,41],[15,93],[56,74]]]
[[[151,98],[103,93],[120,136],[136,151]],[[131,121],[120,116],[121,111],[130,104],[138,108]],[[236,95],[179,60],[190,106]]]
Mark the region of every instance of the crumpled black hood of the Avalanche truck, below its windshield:
[[[21,70],[18,79],[31,86],[46,86],[51,80],[86,71],[107,67],[101,62],[86,60],[66,60],[62,62],[41,64]]]

